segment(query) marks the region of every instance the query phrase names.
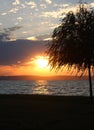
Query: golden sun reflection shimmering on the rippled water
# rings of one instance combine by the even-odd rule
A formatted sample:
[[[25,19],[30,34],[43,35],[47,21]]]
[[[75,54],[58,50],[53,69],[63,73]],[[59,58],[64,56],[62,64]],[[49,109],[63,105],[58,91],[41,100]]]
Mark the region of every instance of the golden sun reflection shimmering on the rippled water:
[[[35,81],[35,87],[33,89],[33,94],[50,94],[47,88],[46,80],[37,80]]]

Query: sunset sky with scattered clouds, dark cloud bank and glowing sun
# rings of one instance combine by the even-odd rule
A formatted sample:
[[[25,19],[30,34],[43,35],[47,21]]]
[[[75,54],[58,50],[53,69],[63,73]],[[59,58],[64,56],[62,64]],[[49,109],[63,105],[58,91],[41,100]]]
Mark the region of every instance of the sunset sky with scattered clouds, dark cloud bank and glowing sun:
[[[94,8],[94,0],[83,2]],[[44,52],[61,16],[78,5],[79,0],[0,0],[0,75],[67,74],[50,71]]]

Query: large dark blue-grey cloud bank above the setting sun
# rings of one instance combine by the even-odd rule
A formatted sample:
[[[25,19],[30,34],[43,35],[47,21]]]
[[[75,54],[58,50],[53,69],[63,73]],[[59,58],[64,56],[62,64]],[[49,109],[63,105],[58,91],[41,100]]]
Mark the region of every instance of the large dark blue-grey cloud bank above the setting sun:
[[[26,59],[34,57],[36,54],[45,52],[47,42],[45,41],[1,41],[0,42],[0,65],[17,64]]]

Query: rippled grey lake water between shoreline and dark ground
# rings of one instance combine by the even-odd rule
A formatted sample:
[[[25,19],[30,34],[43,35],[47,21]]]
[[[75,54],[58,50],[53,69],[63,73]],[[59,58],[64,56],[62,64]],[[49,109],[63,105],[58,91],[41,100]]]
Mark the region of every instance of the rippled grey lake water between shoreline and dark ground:
[[[94,86],[94,81],[92,82]],[[0,94],[89,96],[88,80],[0,80]]]

